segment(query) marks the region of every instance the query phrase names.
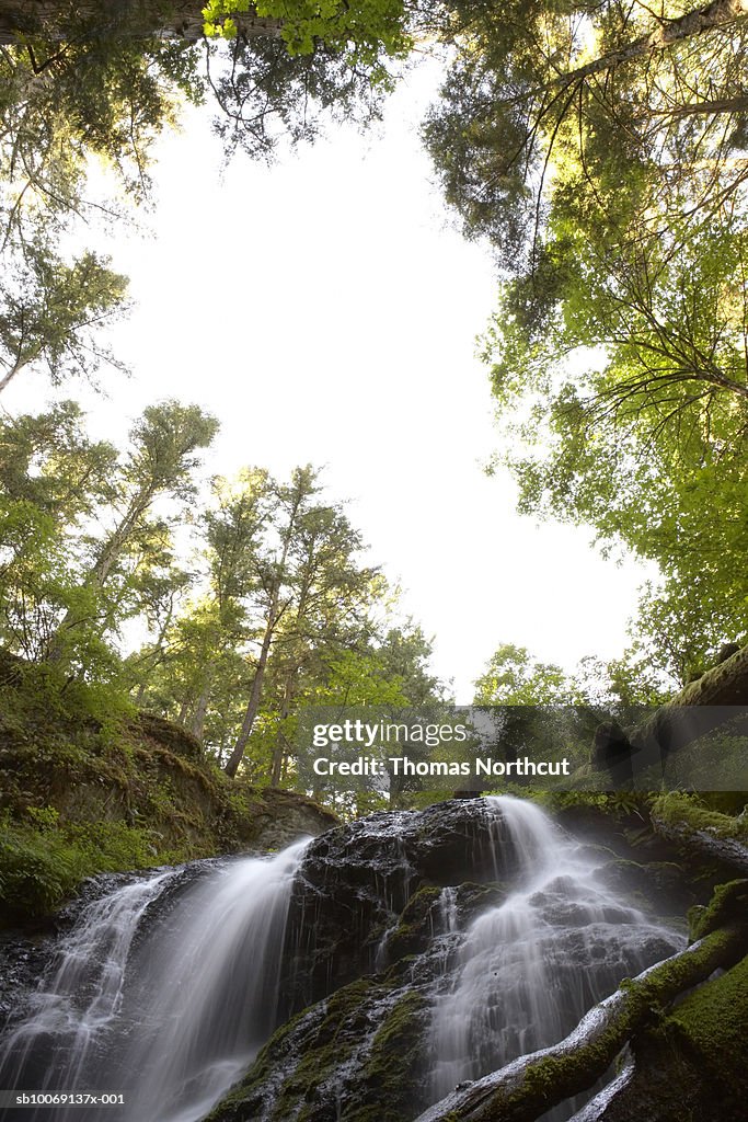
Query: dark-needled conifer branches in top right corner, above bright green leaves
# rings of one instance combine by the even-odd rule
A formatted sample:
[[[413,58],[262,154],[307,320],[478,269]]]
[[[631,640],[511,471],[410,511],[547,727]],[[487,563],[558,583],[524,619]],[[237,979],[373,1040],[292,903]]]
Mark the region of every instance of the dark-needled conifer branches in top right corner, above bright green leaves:
[[[732,160],[747,105],[744,0],[685,13],[611,0],[449,10],[453,62],[425,139],[468,232],[488,234],[511,270],[535,261],[570,160],[588,201],[618,186],[607,229],[619,232],[632,187],[671,202],[701,188],[703,213],[723,197],[715,169],[731,190],[745,180]]]

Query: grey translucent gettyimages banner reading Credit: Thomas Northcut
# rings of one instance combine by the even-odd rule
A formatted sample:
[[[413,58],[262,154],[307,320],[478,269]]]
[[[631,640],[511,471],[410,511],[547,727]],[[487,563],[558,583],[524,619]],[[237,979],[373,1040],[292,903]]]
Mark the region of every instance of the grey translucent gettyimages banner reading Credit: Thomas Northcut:
[[[310,707],[295,739],[311,790],[501,782],[552,790],[748,789],[748,709],[580,706]]]

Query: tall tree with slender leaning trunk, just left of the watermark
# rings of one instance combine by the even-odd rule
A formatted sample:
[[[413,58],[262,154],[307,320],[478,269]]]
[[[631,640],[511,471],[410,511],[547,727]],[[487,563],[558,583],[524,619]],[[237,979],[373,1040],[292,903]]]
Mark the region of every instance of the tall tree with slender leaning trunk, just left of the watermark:
[[[144,701],[185,724],[236,774],[279,783],[298,705],[368,650],[384,589],[360,534],[320,500],[318,472],[213,480],[196,519],[197,581],[161,640],[130,660]],[[138,670],[138,666],[142,668]],[[141,674],[148,673],[144,687]]]

